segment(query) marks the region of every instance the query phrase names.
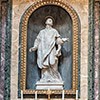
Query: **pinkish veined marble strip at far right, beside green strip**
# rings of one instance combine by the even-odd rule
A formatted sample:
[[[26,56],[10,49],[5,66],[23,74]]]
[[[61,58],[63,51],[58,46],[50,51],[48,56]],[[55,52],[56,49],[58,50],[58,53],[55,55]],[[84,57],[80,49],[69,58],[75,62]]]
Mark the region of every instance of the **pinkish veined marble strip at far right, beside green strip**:
[[[94,79],[94,100],[100,99],[100,0],[95,2],[95,37],[94,37],[94,68],[95,68],[95,79]]]

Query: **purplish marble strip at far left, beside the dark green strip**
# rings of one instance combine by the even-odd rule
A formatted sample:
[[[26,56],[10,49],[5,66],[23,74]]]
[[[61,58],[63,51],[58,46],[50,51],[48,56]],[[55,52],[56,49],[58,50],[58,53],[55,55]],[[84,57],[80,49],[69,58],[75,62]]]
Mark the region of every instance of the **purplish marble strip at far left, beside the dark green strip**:
[[[7,2],[1,2],[1,62],[0,62],[0,100],[4,100],[5,81],[5,38],[6,38],[6,18]]]

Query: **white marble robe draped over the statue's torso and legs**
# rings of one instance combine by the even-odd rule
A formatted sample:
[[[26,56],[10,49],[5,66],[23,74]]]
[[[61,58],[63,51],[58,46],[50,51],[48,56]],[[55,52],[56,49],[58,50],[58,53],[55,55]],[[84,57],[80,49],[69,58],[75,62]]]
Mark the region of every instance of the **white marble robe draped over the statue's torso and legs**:
[[[37,48],[37,64],[39,68],[47,68],[54,65],[57,57],[56,42],[60,35],[54,28],[45,28],[41,30],[34,42]]]

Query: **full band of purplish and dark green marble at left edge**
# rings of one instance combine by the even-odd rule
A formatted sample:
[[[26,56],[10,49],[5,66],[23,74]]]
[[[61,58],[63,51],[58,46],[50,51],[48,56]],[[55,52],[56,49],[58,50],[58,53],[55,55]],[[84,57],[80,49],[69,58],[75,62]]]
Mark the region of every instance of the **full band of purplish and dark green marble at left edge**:
[[[11,0],[0,0],[0,100],[10,99]]]

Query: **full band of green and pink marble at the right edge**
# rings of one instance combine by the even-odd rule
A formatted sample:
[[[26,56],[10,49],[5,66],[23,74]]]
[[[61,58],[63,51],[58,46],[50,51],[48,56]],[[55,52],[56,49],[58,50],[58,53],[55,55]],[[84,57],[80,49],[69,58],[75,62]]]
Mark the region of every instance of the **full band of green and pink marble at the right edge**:
[[[88,99],[100,99],[100,0],[89,0]]]

